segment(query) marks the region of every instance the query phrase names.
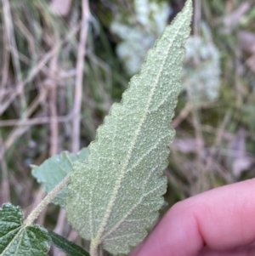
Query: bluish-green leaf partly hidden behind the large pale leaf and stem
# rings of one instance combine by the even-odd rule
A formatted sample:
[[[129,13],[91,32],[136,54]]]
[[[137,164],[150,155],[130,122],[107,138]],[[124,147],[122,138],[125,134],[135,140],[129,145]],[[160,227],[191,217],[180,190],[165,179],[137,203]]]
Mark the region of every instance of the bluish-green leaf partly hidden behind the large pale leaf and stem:
[[[32,165],[32,175],[37,179],[37,182],[43,183],[44,190],[48,193],[71,172],[73,162],[85,160],[86,155],[87,148],[83,148],[77,154],[64,151],[60,155],[48,158],[40,166]],[[67,190],[64,188],[54,198],[53,202],[64,208],[66,193]]]

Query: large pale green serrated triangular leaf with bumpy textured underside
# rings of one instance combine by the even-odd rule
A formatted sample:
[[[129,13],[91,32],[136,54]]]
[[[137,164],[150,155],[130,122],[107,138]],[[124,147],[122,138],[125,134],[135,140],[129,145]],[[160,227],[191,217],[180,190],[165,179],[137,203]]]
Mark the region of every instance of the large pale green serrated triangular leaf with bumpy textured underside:
[[[105,117],[86,162],[74,164],[65,210],[73,228],[91,240],[91,256],[99,244],[128,253],[158,217],[191,15],[188,0],[132,78],[122,104]]]

